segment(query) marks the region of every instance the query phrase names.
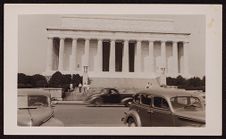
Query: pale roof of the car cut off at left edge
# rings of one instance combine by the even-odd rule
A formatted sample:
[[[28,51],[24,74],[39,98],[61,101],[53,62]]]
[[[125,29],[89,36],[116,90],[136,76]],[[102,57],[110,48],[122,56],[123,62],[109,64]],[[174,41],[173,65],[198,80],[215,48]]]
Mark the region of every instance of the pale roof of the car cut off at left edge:
[[[50,97],[51,94],[48,91],[43,89],[34,89],[34,88],[26,88],[26,89],[18,89],[18,96],[32,96],[32,95],[42,95]]]

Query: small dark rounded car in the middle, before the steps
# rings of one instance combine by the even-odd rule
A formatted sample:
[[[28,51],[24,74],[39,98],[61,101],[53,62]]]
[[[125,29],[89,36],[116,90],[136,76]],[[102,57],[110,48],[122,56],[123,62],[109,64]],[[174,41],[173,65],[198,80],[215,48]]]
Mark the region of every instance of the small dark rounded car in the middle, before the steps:
[[[133,94],[122,94],[115,88],[103,88],[99,93],[86,98],[86,103],[100,106],[104,104],[123,104],[128,106],[133,100]]]

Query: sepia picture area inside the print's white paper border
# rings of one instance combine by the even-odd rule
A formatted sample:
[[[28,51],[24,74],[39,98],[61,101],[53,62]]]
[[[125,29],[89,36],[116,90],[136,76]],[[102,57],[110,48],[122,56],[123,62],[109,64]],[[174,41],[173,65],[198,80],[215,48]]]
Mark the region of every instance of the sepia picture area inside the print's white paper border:
[[[18,20],[18,126],[205,126],[204,16]]]

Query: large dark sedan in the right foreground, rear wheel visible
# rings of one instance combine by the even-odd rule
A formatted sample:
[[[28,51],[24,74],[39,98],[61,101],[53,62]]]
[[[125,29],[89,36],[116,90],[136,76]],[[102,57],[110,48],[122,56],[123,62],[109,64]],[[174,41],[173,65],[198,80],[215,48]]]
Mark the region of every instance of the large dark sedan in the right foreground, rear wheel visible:
[[[205,106],[195,93],[151,88],[134,96],[121,119],[127,126],[205,126]]]

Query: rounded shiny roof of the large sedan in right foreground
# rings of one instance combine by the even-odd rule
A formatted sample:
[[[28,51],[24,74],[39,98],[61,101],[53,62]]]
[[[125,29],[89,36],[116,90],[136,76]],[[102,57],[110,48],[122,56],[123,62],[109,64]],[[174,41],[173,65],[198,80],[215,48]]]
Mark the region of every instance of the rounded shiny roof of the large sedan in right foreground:
[[[140,91],[139,93],[163,96],[166,98],[171,98],[171,97],[176,97],[176,96],[198,96],[194,92],[188,92],[183,89],[163,88],[163,87],[151,87],[147,90]]]

